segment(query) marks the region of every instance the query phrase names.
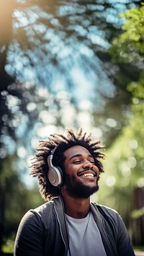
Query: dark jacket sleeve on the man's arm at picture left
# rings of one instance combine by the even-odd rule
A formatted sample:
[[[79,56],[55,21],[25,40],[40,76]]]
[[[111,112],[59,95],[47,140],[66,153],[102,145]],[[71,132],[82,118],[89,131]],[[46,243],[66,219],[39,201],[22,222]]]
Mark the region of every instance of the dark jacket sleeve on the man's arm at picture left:
[[[39,214],[28,211],[19,224],[14,256],[42,256],[42,229]]]

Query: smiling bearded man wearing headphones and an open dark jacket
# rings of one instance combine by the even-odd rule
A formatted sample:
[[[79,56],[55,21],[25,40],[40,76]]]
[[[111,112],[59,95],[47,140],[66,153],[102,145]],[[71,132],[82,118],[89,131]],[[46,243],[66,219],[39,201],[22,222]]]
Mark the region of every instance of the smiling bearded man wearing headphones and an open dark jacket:
[[[14,245],[16,256],[132,256],[130,238],[119,214],[90,203],[104,172],[91,137],[67,129],[41,141],[32,172],[38,178],[42,206],[23,217]]]

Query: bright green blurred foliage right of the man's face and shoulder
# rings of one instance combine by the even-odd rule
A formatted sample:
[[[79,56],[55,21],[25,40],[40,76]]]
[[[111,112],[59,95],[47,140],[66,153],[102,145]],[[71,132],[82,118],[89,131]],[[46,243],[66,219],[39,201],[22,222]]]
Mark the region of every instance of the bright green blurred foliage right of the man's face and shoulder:
[[[141,190],[144,187],[143,113],[138,110],[143,109],[144,106],[140,103],[138,105],[136,109],[135,105],[132,105],[129,123],[122,129],[112,146],[107,149],[107,159],[104,161],[105,173],[101,177],[98,193],[99,203],[106,204],[120,213],[133,239],[137,238],[137,242],[138,233],[132,228],[130,216],[134,216],[134,213],[142,213],[136,210],[140,208],[138,205],[140,198],[136,197],[135,187]],[[137,224],[138,226],[140,224]]]

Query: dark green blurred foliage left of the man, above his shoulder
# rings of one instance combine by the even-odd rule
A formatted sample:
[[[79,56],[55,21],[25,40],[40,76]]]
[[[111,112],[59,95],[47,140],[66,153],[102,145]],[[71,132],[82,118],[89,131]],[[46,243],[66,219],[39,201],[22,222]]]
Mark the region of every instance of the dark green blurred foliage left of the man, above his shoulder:
[[[17,171],[17,157],[7,156],[1,160],[0,168],[0,242],[15,239],[20,219],[30,208],[42,204],[37,187],[27,189]],[[1,244],[0,243],[0,244]],[[10,242],[9,246],[12,245]]]

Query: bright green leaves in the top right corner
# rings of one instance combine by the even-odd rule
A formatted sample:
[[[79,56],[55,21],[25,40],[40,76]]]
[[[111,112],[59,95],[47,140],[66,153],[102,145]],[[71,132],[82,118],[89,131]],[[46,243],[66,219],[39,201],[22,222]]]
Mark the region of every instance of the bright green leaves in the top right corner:
[[[113,60],[125,63],[135,63],[141,65],[143,69],[144,58],[144,6],[132,8],[121,14],[125,19],[122,25],[122,34],[112,40],[112,48],[109,53],[112,53]]]

